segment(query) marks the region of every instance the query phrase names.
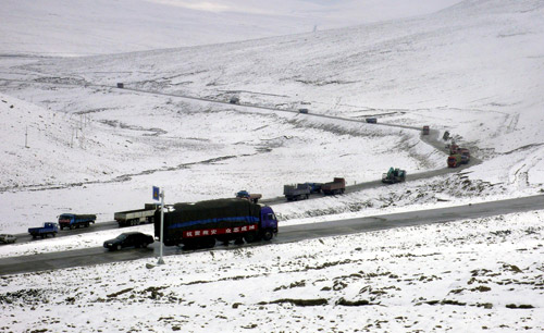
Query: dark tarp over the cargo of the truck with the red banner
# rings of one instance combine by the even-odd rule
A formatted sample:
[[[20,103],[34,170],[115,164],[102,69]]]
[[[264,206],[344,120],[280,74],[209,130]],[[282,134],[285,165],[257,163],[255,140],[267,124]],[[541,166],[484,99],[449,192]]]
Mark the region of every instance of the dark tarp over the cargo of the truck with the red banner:
[[[196,203],[175,203],[164,212],[164,238],[178,237],[184,231],[235,227],[259,222],[260,206],[244,199],[217,199]],[[154,235],[160,234],[160,210],[154,217]]]

